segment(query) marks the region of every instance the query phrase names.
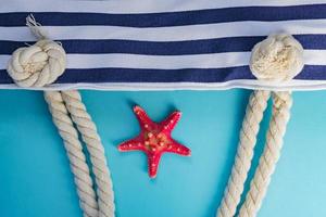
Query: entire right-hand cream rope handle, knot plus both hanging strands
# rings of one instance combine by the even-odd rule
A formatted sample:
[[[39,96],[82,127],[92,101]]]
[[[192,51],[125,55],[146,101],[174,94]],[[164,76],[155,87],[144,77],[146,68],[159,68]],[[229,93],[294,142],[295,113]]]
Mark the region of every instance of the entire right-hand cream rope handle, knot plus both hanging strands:
[[[250,69],[258,79],[284,82],[292,79],[302,71],[303,48],[290,35],[271,35],[267,39],[254,46],[250,61]],[[263,93],[265,93],[264,98],[256,98],[258,94]],[[234,217],[236,215],[244,188],[243,184],[251,167],[259,123],[262,119],[268,98],[268,91],[260,90],[254,91],[250,98],[240,132],[236,161],[224,197],[217,209],[216,216],[218,217]],[[256,101],[256,104],[253,104],[253,100]],[[273,92],[273,116],[266,138],[266,148],[251,181],[246,201],[240,208],[240,217],[254,217],[256,215],[280,154],[292,100],[289,92]],[[248,111],[252,111],[252,113]]]

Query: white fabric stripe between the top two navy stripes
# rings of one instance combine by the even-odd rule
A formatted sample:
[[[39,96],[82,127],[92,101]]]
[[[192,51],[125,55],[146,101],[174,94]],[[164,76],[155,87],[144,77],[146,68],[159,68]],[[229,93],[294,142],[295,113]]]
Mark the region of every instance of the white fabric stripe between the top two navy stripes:
[[[51,39],[126,39],[140,41],[184,41],[272,33],[326,34],[326,20],[284,22],[234,22],[160,28],[116,26],[45,26]],[[223,29],[223,30],[222,30]],[[77,34],[76,34],[77,33]],[[0,40],[34,41],[27,27],[0,27]]]

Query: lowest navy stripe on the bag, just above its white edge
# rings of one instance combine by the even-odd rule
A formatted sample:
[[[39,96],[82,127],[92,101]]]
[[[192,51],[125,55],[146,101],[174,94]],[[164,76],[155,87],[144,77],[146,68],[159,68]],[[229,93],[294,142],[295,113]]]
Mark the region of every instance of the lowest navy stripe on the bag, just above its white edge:
[[[296,78],[326,80],[326,66],[306,65]],[[57,80],[57,84],[224,82],[235,79],[254,79],[254,77],[248,66],[185,69],[95,68],[67,69]],[[0,71],[0,84],[12,84],[12,79],[5,71]]]

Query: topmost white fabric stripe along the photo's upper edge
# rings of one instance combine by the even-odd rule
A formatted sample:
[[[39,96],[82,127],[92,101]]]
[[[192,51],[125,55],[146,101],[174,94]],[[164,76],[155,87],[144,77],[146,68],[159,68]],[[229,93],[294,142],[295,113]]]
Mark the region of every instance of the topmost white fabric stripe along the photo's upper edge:
[[[2,0],[4,1],[4,0]],[[0,5],[1,12],[93,12],[155,13],[251,5],[297,5],[326,3],[325,0],[10,0]]]

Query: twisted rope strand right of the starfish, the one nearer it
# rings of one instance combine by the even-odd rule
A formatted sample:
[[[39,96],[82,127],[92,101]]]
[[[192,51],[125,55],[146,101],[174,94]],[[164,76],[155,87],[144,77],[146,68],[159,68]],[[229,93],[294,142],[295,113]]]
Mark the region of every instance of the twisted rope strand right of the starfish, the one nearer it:
[[[253,149],[256,143],[256,135],[263,113],[266,110],[271,92],[265,90],[253,91],[246,110],[246,116],[240,131],[240,141],[231,169],[224,197],[217,209],[217,217],[233,217],[243,192],[243,184],[251,166]]]

